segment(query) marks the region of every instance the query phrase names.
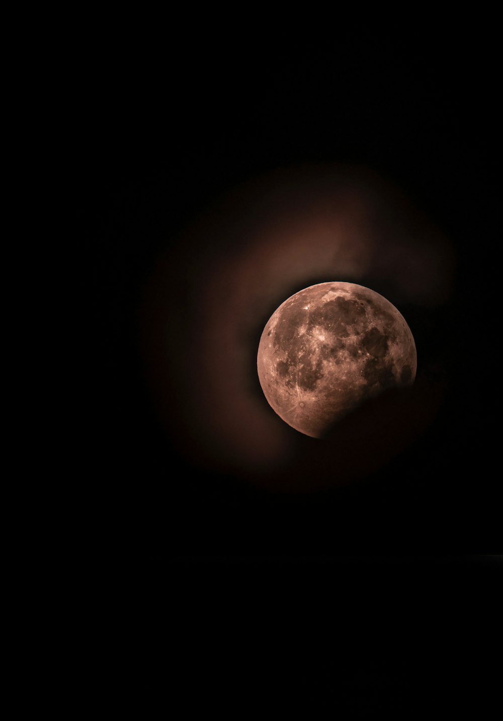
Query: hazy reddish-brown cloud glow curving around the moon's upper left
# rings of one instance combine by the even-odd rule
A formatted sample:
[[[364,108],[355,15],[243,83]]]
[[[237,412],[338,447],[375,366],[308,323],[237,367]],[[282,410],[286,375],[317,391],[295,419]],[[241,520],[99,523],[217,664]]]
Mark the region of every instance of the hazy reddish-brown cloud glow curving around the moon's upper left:
[[[203,465],[252,475],[281,467],[295,431],[271,412],[255,365],[277,306],[306,286],[346,280],[399,308],[435,309],[448,302],[453,273],[448,239],[365,169],[280,170],[233,190],[171,242],[141,309],[167,432]]]

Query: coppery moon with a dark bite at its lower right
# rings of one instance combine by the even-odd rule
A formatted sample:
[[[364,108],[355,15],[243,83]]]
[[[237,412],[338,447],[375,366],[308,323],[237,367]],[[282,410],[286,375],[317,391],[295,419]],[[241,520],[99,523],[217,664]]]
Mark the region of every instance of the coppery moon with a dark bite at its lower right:
[[[267,402],[313,438],[366,400],[413,384],[416,370],[404,317],[355,283],[319,283],[290,296],[265,325],[257,353]]]

